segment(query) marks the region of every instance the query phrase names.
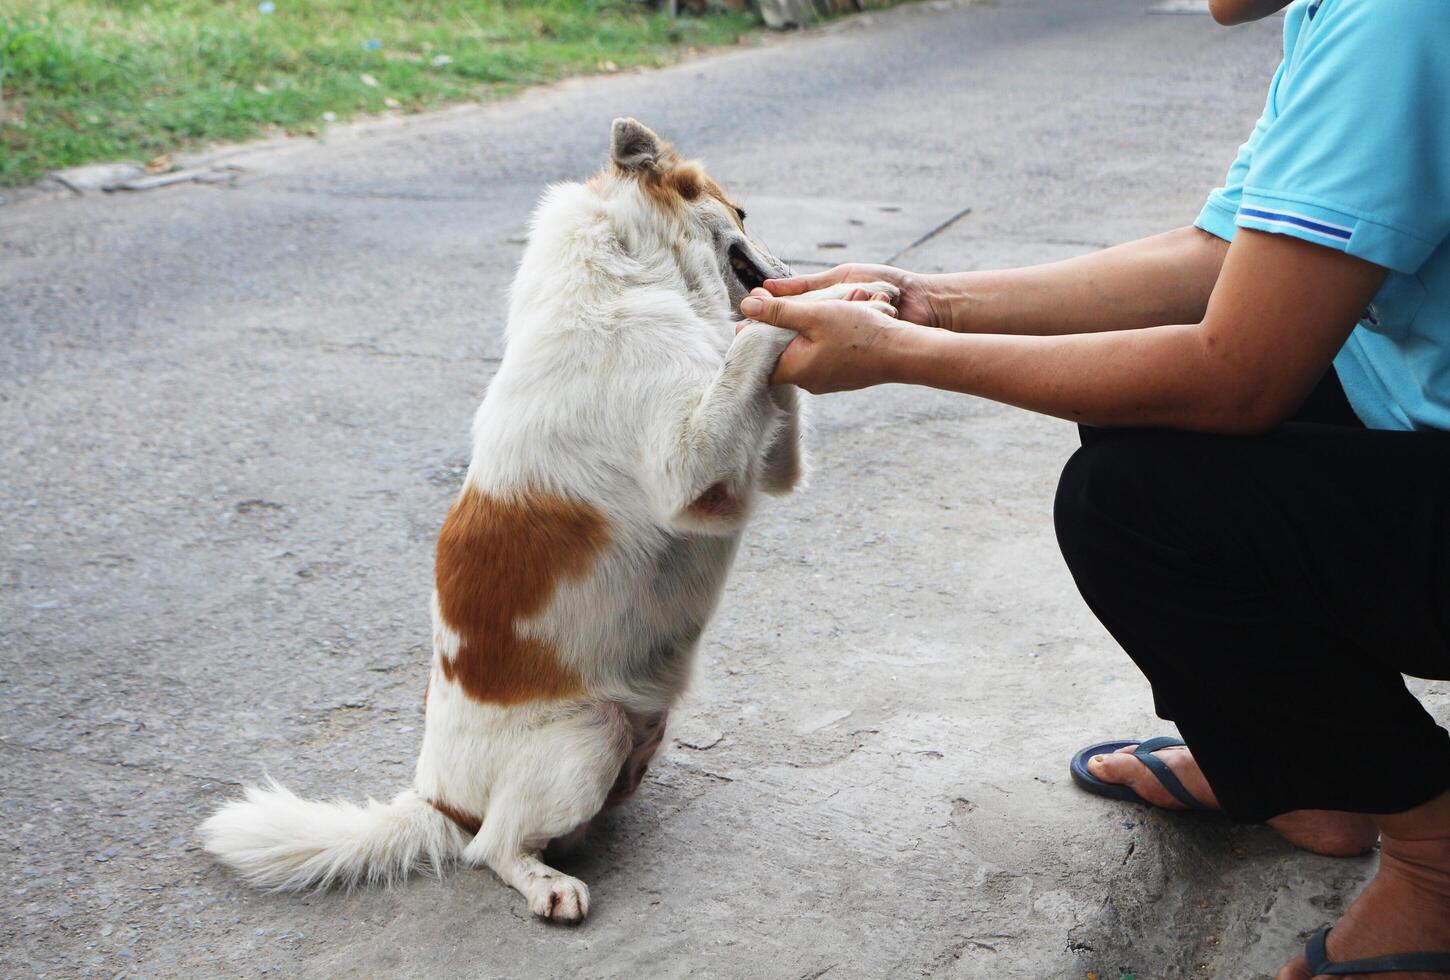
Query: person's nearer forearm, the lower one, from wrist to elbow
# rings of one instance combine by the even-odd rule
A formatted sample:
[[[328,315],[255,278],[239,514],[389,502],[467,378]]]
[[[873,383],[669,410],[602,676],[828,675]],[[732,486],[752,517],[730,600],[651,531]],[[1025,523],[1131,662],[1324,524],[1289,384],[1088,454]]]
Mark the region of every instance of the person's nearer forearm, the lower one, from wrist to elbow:
[[[1251,432],[1285,410],[1237,384],[1198,325],[1072,336],[903,331],[883,375],[1072,422]],[[1282,399],[1279,399],[1282,400]]]

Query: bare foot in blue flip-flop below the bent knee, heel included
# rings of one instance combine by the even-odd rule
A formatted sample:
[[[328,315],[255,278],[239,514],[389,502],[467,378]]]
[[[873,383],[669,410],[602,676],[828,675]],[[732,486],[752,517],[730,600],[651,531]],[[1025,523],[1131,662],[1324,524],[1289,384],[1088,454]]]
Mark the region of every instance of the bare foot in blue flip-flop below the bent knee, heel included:
[[[1137,745],[1125,745],[1116,752],[1093,755],[1088,760],[1088,771],[1105,783],[1128,786],[1138,796],[1166,810],[1186,809],[1169,793],[1157,777],[1132,755]],[[1204,771],[1193,761],[1188,748],[1164,748],[1154,752],[1167,763],[1193,799],[1218,809],[1214,787],[1204,778]],[[1269,821],[1269,826],[1296,848],[1327,854],[1330,857],[1357,857],[1367,854],[1379,838],[1375,821],[1367,813],[1344,813],[1341,810],[1293,810]]]

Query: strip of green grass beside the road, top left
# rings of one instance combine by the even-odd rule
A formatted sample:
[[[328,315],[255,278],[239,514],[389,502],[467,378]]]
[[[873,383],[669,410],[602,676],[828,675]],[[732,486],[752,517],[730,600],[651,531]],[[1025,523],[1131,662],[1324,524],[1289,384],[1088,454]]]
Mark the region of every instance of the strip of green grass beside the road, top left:
[[[0,0],[0,187],[660,65],[754,29],[635,0]]]

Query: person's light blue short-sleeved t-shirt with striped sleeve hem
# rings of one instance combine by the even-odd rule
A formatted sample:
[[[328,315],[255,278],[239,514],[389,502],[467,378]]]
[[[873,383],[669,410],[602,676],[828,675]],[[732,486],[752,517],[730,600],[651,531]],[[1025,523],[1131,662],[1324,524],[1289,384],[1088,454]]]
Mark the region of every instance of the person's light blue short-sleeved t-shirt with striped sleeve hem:
[[[1450,431],[1450,0],[1299,0],[1253,135],[1195,222],[1391,270],[1334,367],[1373,429]]]

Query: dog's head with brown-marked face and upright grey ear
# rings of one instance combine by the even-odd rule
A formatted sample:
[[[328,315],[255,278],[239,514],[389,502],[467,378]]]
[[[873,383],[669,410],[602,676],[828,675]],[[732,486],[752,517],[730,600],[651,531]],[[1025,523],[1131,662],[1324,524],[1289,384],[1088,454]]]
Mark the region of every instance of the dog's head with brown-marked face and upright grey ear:
[[[648,206],[661,212],[677,245],[703,246],[729,297],[731,310],[767,278],[790,275],[745,232],[745,210],[710,180],[696,161],[682,159],[668,142],[635,119],[616,119],[609,141],[609,174],[634,186]]]

